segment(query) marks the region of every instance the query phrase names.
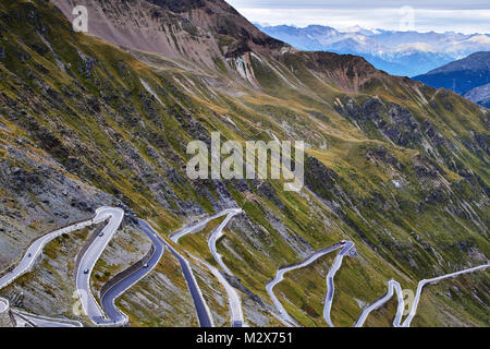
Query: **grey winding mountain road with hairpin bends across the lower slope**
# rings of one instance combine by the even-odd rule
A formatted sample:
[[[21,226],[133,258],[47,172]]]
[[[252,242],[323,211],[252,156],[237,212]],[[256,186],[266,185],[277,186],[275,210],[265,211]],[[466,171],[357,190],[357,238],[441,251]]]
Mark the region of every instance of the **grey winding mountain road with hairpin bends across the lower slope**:
[[[236,215],[241,214],[242,209],[240,208],[232,208],[232,209],[225,209],[219,214],[216,214],[213,216],[210,216],[193,226],[186,227],[184,229],[179,230],[174,234],[171,236],[171,240],[175,243],[179,242],[179,240],[188,234],[194,233],[206,227],[206,225],[219,217],[225,216],[226,218],[220,224],[220,226],[213,230],[211,236],[208,239],[209,250],[211,251],[215,260],[219,264],[220,269],[211,266],[206,261],[203,261],[200,258],[197,258],[195,256],[192,256],[196,261],[199,261],[204,265],[206,265],[209,270],[217,277],[217,279],[223,285],[229,301],[230,301],[230,312],[231,312],[231,320],[232,320],[232,326],[234,327],[241,327],[244,324],[243,320],[243,309],[241,304],[241,298],[236,290],[230,285],[225,275],[233,276],[232,272],[226,267],[224,262],[222,261],[222,256],[217,251],[217,242],[220,238],[223,237],[223,229],[226,227],[226,225],[230,222],[230,220],[235,217]],[[122,220],[124,218],[124,212],[120,208],[114,207],[100,207],[96,210],[96,216],[93,219],[88,219],[82,222],[74,224],[70,227],[65,227],[59,230],[56,230],[51,233],[48,233],[36,241],[34,241],[27,249],[25,255],[20,261],[19,265],[16,265],[12,272],[5,274],[2,278],[0,278],[0,289],[9,286],[11,282],[13,282],[15,279],[21,277],[22,275],[29,273],[34,269],[36,265],[36,261],[41,256],[44,249],[46,245],[53,241],[54,239],[59,238],[60,236],[69,232],[73,232],[76,230],[81,230],[83,228],[106,221],[109,219],[109,222],[107,226],[102,229],[102,231],[99,233],[99,236],[96,238],[96,240],[90,244],[90,246],[87,249],[87,251],[82,256],[82,260],[79,262],[78,268],[76,270],[76,288],[78,291],[78,294],[81,297],[82,306],[89,317],[91,322],[99,326],[123,326],[128,323],[127,316],[122,313],[120,310],[115,306],[115,300],[121,297],[126,290],[128,290],[131,287],[133,287],[136,282],[138,282],[140,279],[143,279],[146,275],[148,275],[155,267],[158,265],[159,261],[161,260],[166,249],[168,249],[179,261],[182,267],[183,275],[185,277],[185,280],[187,282],[187,287],[189,290],[189,293],[193,298],[197,316],[199,320],[199,325],[201,327],[212,327],[212,316],[210,313],[210,310],[208,305],[206,304],[206,301],[204,300],[203,292],[200,291],[197,281],[194,277],[194,274],[192,272],[191,265],[186,258],[184,258],[179,252],[176,252],[163,238],[161,238],[158,232],[151,228],[150,225],[148,225],[145,220],[139,219],[139,227],[140,229],[148,236],[148,238],[151,240],[155,251],[151,254],[149,261],[140,268],[136,269],[128,276],[126,276],[124,279],[118,281],[115,285],[113,285],[105,294],[102,294],[101,304],[102,308],[99,305],[97,300],[95,299],[94,294],[91,293],[90,287],[89,287],[89,280],[90,275],[93,273],[94,266],[97,263],[97,261],[100,258],[101,254],[106,250],[107,245],[118,231]],[[342,262],[345,255],[354,248],[354,243],[351,241],[344,241],[331,246],[328,246],[326,249],[322,249],[318,252],[315,252],[313,255],[310,255],[308,258],[306,258],[303,262],[285,266],[278,269],[278,273],[275,275],[275,278],[271,280],[269,284],[267,284],[266,289],[271,297],[274,306],[277,308],[279,312],[278,318],[283,322],[286,326],[298,326],[297,322],[291,317],[285,309],[283,308],[282,303],[279,301],[279,299],[275,297],[273,292],[273,288],[280,284],[284,279],[284,274],[297,269],[303,268],[311,263],[316,262],[323,255],[333,252],[335,250],[339,250],[342,248],[342,250],[339,252],[339,254],[335,256],[335,260],[332,264],[332,266],[329,269],[329,273],[327,275],[327,297],[323,308],[323,317],[327,322],[327,324],[331,327],[333,327],[333,323],[331,321],[331,308],[332,308],[332,301],[334,296],[334,276],[336,272],[341,268]],[[436,284],[443,279],[457,277],[463,274],[467,273],[474,273],[477,270],[482,270],[489,267],[489,264],[480,265],[477,267],[468,268],[465,270],[451,273],[448,275],[434,277],[431,279],[424,279],[418,284],[416,297],[414,299],[414,303],[411,306],[409,313],[405,321],[402,323],[402,316],[405,309],[405,302],[403,299],[403,291],[400,286],[400,284],[395,280],[390,280],[388,282],[388,292],[382,296],[380,299],[365,308],[357,320],[357,322],[354,324],[355,327],[362,327],[364,323],[367,320],[367,316],[377,309],[380,309],[382,305],[384,305],[396,292],[397,296],[397,310],[396,315],[393,321],[394,327],[409,327],[411,323],[414,318],[414,316],[417,313],[418,303],[420,301],[421,292],[424,290],[424,287],[429,284]],[[103,309],[103,310],[102,310]],[[54,318],[38,316],[38,315],[32,315],[27,313],[17,313],[16,316],[19,318],[24,318],[26,323],[29,323],[32,326],[39,326],[39,327],[77,327],[78,323],[76,322],[68,322],[68,321],[57,321]],[[79,324],[81,325],[81,324]]]

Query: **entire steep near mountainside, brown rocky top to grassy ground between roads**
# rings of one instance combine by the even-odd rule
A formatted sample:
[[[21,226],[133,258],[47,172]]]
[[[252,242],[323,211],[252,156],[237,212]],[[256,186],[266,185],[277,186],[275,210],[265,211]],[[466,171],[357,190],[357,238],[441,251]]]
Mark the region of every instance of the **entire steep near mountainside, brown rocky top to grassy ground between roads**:
[[[147,253],[135,216],[167,236],[240,206],[218,249],[238,278],[245,321],[278,325],[265,288],[277,268],[350,239],[357,256],[336,276],[332,317],[351,326],[390,278],[415,289],[422,278],[488,262],[488,109],[359,57],[298,51],[221,0],[76,1],[89,10],[93,35],[72,31],[74,3],[0,1],[0,268],[34,237],[113,205],[128,214],[127,228],[97,266],[100,286]],[[187,143],[210,144],[215,131],[223,141],[305,141],[306,186],[188,179]],[[193,238],[175,248],[206,258],[206,233]],[[68,263],[66,246],[52,257]],[[318,263],[278,293],[306,326],[326,326],[331,261]],[[226,325],[223,290],[209,270],[193,268],[217,324]],[[427,292],[430,308],[416,321],[488,325],[486,273],[450,303]],[[52,276],[34,274],[12,287],[42,292],[35,286]],[[65,301],[70,289],[50,297]],[[196,325],[187,294],[167,254],[120,303],[135,326]],[[28,299],[25,310],[49,312],[49,298],[39,306]],[[76,317],[63,304],[42,315]],[[449,323],[438,316],[448,308]],[[383,309],[371,325],[393,315]]]

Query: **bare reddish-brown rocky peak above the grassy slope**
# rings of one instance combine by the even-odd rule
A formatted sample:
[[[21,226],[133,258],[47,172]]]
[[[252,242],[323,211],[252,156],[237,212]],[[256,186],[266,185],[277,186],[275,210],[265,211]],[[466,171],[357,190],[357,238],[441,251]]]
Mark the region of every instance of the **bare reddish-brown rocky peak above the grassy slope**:
[[[213,58],[266,51],[285,44],[261,33],[222,0],[53,0],[71,17],[75,5],[89,13],[89,33],[132,50],[213,67]]]

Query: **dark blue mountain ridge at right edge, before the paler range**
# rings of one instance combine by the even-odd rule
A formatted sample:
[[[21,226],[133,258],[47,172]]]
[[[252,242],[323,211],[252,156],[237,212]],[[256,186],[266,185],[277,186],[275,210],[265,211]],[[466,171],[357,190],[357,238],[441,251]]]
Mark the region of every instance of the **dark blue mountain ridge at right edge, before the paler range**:
[[[414,80],[448,88],[490,108],[490,52],[476,52]]]

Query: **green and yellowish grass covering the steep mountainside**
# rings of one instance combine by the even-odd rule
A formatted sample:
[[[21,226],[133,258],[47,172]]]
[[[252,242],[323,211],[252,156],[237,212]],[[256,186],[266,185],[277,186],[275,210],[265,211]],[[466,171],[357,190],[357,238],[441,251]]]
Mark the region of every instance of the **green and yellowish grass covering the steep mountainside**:
[[[199,34],[192,24],[183,29]],[[488,113],[454,94],[358,72],[365,67],[356,67],[355,59],[327,53],[250,56],[260,88],[238,82],[234,59],[216,58],[211,71],[187,71],[149,56],[147,65],[93,36],[72,33],[52,4],[37,0],[2,1],[0,33],[5,50],[0,122],[11,130],[0,128],[0,159],[10,157],[9,144],[25,137],[40,157],[62,165],[63,176],[112,195],[164,234],[181,228],[188,215],[213,213],[223,195],[233,198],[245,214],[230,225],[218,249],[243,286],[266,303],[265,285],[278,267],[342,239],[353,240],[358,252],[345,260],[335,279],[332,318],[342,326],[360,313],[356,300],[373,301],[390,278],[414,289],[419,279],[483,264],[490,254]],[[224,34],[217,40],[221,50],[236,44]],[[347,79],[347,70],[357,77]],[[241,142],[269,141],[269,132],[304,140],[308,190],[284,192],[282,180],[191,181],[186,144],[208,141],[212,131]],[[177,249],[213,263],[206,237],[218,224],[184,238]],[[331,257],[287,275],[278,286],[278,294],[289,300],[285,308],[303,325],[324,326],[324,273]],[[166,256],[157,272],[184,292],[185,281],[170,260]],[[99,262],[96,288],[122,267]],[[199,282],[206,297],[225,317],[225,306],[212,297],[219,290],[206,286],[205,276]],[[158,303],[160,296],[150,289],[159,280],[150,277],[119,304],[136,326],[173,325],[162,304],[152,313],[137,302],[142,293]],[[430,293],[416,324],[441,325],[438,312],[465,306],[451,324],[467,318],[488,325],[487,308],[477,306],[474,297],[486,292],[486,282],[467,282],[460,289],[468,293],[448,302]],[[182,301],[175,310],[183,312],[180,321],[195,325],[188,299],[176,293],[169,302]],[[387,325],[392,316],[390,303],[368,325]]]

